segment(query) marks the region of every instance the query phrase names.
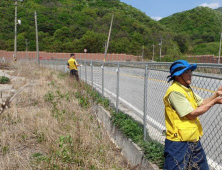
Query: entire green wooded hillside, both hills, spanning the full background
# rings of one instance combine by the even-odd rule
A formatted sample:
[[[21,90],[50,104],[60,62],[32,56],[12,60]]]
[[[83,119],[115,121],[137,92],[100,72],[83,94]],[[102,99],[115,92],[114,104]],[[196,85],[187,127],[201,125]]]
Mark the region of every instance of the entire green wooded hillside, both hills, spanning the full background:
[[[18,1],[18,51],[36,50],[34,12],[37,12],[39,50],[103,53],[112,15],[108,53],[142,55],[151,59],[183,55],[218,55],[222,23],[220,8],[197,7],[155,21],[119,0]],[[15,2],[0,1],[0,50],[14,50]],[[26,41],[27,40],[27,41]],[[26,43],[27,42],[27,43]]]

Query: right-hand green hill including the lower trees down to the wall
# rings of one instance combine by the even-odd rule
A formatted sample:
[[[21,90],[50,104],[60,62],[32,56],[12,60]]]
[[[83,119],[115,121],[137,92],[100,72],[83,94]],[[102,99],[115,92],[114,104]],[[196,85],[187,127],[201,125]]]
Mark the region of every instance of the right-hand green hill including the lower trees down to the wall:
[[[208,7],[197,7],[173,14],[159,22],[171,31],[184,35],[184,40],[187,42],[187,51],[184,52],[218,55],[222,26],[221,12]],[[176,41],[182,41],[181,38],[183,37],[178,37]]]

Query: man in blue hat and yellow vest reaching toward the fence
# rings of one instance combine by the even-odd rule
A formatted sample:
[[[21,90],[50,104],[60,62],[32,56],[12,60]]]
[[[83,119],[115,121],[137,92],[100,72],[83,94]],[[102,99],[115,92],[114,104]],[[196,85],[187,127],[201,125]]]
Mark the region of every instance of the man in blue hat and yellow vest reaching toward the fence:
[[[177,60],[170,67],[170,82],[163,101],[165,105],[165,163],[164,170],[209,170],[200,138],[203,135],[198,116],[215,104],[222,104],[222,86],[203,100],[190,87],[192,71],[197,64]]]

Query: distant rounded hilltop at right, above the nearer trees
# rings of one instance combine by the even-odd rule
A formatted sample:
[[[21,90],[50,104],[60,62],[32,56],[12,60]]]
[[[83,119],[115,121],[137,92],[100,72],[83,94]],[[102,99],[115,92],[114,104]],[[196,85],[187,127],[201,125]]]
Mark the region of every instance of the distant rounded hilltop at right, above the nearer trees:
[[[173,14],[159,21],[177,33],[188,34],[193,41],[219,41],[222,13],[208,7],[197,7]]]

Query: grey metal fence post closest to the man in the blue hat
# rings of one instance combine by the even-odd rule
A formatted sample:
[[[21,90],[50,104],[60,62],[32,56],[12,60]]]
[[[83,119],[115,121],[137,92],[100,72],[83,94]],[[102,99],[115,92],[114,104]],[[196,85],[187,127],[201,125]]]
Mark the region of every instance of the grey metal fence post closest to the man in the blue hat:
[[[146,140],[146,116],[147,116],[147,84],[148,84],[148,75],[147,75],[147,69],[148,66],[145,67],[145,74],[144,74],[144,110],[143,110],[143,140]]]

